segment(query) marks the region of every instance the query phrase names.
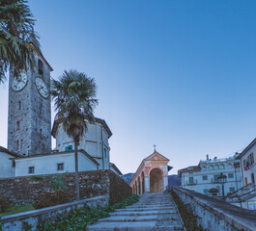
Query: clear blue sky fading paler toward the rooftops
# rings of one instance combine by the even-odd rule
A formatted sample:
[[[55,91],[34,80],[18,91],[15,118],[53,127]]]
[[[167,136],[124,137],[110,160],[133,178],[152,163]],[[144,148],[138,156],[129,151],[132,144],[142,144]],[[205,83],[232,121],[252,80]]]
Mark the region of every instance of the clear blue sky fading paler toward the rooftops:
[[[33,0],[43,54],[59,77],[94,77],[126,173],[153,152],[175,173],[241,151],[256,137],[256,2]],[[8,83],[0,86],[7,145]],[[54,115],[54,113],[53,113]]]

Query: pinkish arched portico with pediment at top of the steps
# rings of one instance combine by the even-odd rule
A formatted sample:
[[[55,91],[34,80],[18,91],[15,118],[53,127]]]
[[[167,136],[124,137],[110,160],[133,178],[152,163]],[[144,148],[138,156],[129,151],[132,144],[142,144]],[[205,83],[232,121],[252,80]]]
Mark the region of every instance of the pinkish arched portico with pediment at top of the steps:
[[[169,160],[156,150],[145,158],[129,183],[132,192],[143,194],[168,190],[168,171],[173,168],[168,163]]]

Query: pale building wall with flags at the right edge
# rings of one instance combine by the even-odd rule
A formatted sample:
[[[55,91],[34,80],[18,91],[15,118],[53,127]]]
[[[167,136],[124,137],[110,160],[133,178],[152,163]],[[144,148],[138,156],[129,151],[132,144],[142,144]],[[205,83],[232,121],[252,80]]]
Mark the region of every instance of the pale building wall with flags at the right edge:
[[[254,156],[254,165],[250,167],[249,169],[245,170],[243,167],[243,160],[246,160],[247,157],[253,153]],[[247,183],[250,184],[251,182],[251,173],[254,173],[254,182],[256,182],[256,145],[252,146],[250,149],[248,149],[245,154],[242,156],[241,159],[241,165],[242,165],[242,185],[245,186],[245,177],[247,177]]]

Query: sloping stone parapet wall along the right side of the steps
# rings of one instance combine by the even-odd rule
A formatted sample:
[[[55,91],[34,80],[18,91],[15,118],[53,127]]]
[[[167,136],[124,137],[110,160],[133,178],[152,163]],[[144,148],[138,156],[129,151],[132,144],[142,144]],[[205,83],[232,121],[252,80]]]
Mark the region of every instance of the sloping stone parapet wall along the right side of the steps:
[[[176,187],[173,191],[192,210],[198,226],[202,225],[209,231],[256,230],[256,211],[248,211],[199,192]]]

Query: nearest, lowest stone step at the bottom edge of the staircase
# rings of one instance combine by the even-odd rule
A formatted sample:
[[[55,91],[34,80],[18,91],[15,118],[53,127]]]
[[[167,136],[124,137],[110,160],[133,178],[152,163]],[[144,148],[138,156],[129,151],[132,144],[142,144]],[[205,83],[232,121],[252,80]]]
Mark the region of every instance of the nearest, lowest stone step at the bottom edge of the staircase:
[[[148,230],[184,230],[183,225],[156,226],[156,221],[125,221],[125,222],[99,222],[89,225],[88,231],[148,231]]]

